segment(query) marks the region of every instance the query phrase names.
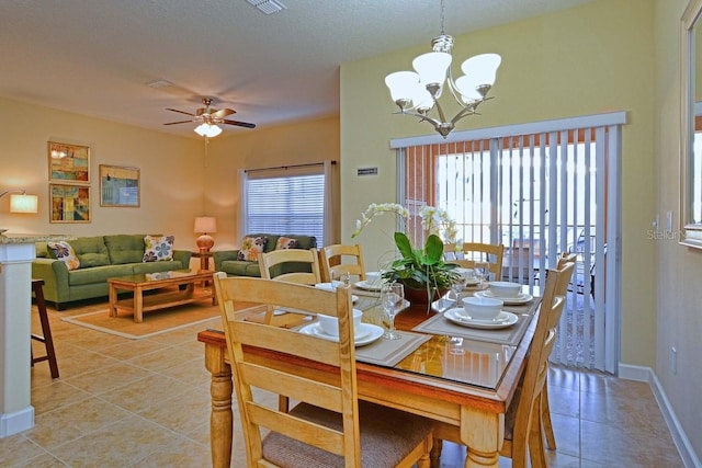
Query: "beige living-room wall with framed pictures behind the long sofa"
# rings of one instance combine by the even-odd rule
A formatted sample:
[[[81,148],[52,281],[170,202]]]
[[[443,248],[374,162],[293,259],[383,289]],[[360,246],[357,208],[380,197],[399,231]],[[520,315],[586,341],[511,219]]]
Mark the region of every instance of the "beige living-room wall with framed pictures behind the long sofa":
[[[201,141],[5,99],[0,128],[0,191],[25,189],[39,197],[36,215],[10,214],[9,196],[2,197],[0,227],[76,236],[168,232],[177,248],[195,248],[193,216],[204,207]],[[49,222],[49,140],[90,146],[91,222]],[[100,206],[99,164],[140,169],[140,207]]]

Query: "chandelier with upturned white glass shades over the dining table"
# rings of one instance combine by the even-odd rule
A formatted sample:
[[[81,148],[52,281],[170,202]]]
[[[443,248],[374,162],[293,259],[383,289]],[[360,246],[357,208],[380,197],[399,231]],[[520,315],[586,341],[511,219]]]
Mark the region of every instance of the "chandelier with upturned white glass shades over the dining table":
[[[419,122],[429,122],[434,129],[446,136],[453,130],[456,122],[468,115],[477,114],[476,110],[492,88],[497,68],[501,58],[497,54],[482,54],[468,58],[461,65],[465,73],[454,81],[451,73],[451,48],[453,37],[444,34],[444,4],[441,0],[441,34],[431,41],[432,52],[422,54],[412,60],[416,71],[396,71],[385,77],[385,84],[390,96],[399,107],[399,113],[419,117]],[[439,103],[444,83],[456,100],[461,110],[446,119]],[[437,110],[438,118],[430,116]]]

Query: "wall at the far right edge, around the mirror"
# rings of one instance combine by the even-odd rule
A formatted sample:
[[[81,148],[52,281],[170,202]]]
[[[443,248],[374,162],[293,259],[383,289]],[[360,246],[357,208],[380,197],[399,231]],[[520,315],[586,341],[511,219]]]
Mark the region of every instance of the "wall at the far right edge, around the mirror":
[[[656,140],[657,206],[679,210],[680,18],[688,0],[656,1]],[[676,231],[676,235],[678,232]],[[657,297],[656,374],[698,457],[702,456],[702,250],[679,246],[677,237],[655,241]],[[678,352],[678,370],[670,366]]]

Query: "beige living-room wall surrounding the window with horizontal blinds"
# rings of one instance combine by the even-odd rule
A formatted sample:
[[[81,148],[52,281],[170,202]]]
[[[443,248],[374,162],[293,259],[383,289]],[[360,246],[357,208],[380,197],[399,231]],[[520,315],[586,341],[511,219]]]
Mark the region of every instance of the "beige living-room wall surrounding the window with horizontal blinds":
[[[207,151],[205,199],[217,217],[215,250],[239,246],[239,169],[339,161],[339,117],[298,122],[213,139]],[[294,232],[290,232],[294,233]]]

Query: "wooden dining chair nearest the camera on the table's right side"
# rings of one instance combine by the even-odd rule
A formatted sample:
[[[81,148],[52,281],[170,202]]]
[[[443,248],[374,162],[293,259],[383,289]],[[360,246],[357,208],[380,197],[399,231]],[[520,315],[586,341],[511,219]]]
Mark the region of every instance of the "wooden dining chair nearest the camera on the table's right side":
[[[548,270],[546,275],[524,375],[505,415],[500,455],[511,458],[513,468],[526,468],[528,458],[532,468],[546,467],[544,435],[540,421],[541,396],[548,373],[548,355],[556,341],[556,329],[565,306],[565,295],[557,293],[567,289],[574,266],[574,263],[567,263],[561,270]],[[438,423],[434,431],[440,440],[461,443],[460,427]],[[467,456],[475,456],[476,465],[491,461],[480,458],[479,454],[473,455],[471,447]]]

